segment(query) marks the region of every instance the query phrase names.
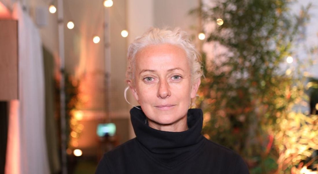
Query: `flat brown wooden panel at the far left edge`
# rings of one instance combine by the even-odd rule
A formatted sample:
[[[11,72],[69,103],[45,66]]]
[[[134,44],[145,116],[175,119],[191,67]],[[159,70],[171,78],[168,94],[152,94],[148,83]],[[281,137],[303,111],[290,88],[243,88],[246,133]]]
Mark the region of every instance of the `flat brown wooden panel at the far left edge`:
[[[0,20],[0,100],[18,99],[17,21]]]

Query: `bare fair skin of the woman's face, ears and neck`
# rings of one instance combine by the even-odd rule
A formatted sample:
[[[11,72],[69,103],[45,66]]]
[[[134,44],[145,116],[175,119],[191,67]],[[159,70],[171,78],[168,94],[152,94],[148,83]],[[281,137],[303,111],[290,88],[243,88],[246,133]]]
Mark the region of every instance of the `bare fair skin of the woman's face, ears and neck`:
[[[135,56],[134,82],[128,84],[151,128],[169,132],[188,129],[187,112],[200,79],[191,80],[182,48],[171,44],[142,48]]]

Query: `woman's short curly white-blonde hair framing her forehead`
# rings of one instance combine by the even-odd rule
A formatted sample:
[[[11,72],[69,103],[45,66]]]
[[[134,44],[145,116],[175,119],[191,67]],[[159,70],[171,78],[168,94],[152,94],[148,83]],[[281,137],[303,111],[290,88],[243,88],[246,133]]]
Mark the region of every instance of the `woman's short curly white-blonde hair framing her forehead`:
[[[189,60],[191,69],[191,80],[195,82],[203,75],[200,53],[195,45],[190,41],[189,35],[179,28],[171,30],[151,27],[142,36],[135,40],[128,47],[128,63],[126,70],[126,80],[134,84],[135,55],[142,48],[148,45],[171,44],[181,47]]]

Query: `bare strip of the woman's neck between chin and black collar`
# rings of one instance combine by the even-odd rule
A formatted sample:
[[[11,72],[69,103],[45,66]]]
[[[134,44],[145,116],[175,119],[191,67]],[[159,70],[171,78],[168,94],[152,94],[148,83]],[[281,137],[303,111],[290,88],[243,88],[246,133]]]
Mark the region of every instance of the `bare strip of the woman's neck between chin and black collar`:
[[[167,132],[183,132],[189,129],[187,124],[187,115],[172,124],[160,124],[148,119],[148,125],[150,128]]]

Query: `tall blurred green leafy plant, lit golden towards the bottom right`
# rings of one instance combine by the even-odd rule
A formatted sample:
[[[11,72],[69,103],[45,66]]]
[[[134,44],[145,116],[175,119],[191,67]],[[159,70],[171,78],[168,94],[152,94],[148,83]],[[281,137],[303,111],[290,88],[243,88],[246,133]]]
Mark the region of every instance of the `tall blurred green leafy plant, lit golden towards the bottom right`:
[[[289,135],[281,123],[307,117],[294,114],[290,118],[295,104],[308,98],[301,74],[304,65],[286,73],[281,67],[287,64],[287,56],[295,55],[294,47],[304,37],[310,4],[296,16],[290,13],[290,4],[289,0],[217,0],[197,10],[204,24],[212,28],[207,42],[218,53],[212,58],[203,55],[205,78],[197,103],[204,111],[203,133],[239,152],[255,173],[290,170],[303,159],[277,165],[285,153],[279,142],[284,143],[281,146],[298,142],[285,141]],[[216,23],[218,18],[224,21],[222,25]],[[290,131],[307,130],[303,126],[316,120]],[[317,134],[317,128],[312,129]],[[314,148],[309,142],[318,142],[316,137],[305,139],[307,148]]]

